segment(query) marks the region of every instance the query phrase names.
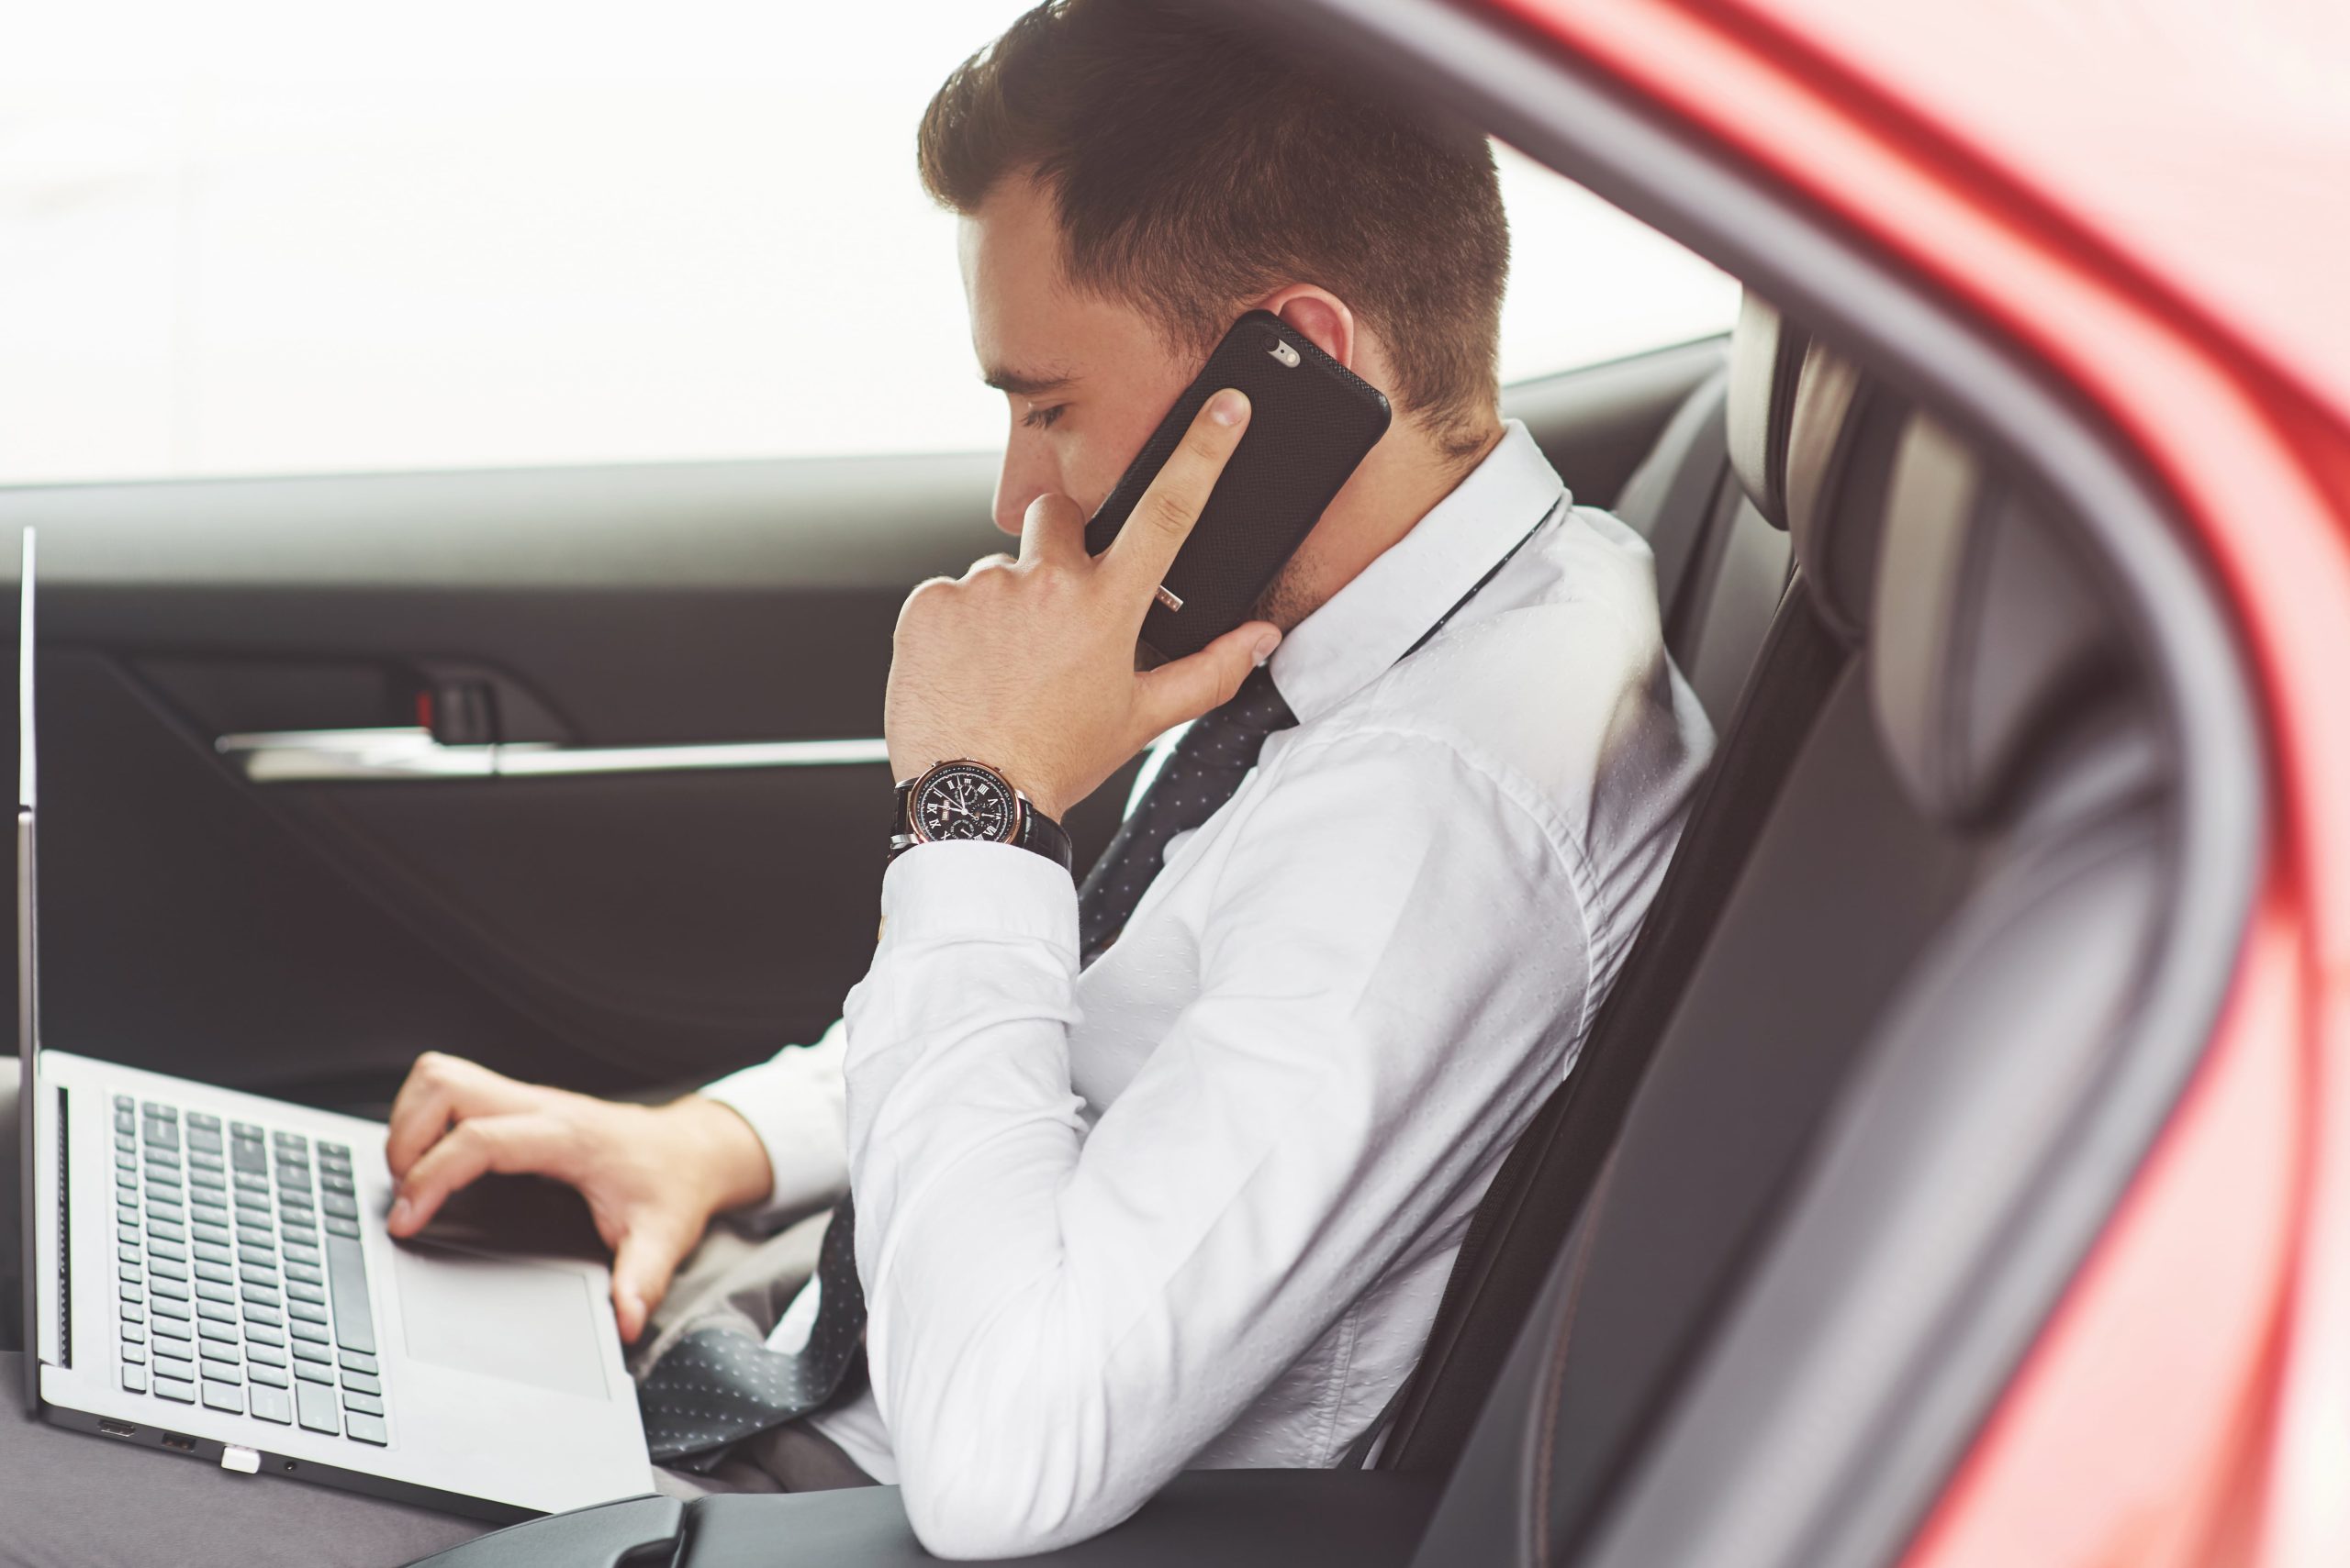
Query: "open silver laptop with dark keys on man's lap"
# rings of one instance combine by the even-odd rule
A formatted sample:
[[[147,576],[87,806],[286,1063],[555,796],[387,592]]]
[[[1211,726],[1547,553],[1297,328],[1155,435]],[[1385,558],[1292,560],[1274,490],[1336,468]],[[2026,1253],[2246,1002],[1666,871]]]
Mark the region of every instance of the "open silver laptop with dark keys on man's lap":
[[[33,1413],[496,1521],[651,1491],[602,1263],[392,1242],[383,1124],[42,1049],[31,528],[16,723]]]

